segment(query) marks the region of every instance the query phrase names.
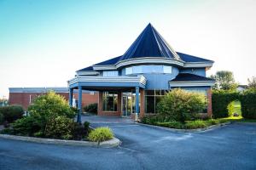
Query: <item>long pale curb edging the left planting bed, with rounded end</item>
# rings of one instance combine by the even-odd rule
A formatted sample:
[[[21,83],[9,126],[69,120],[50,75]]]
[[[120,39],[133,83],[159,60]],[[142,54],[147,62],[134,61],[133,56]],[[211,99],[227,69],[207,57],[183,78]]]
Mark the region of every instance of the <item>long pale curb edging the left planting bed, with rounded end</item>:
[[[113,148],[121,144],[120,140],[117,138],[113,138],[108,141],[101,142],[99,145],[97,142],[89,142],[89,141],[41,139],[41,138],[26,137],[26,136],[15,136],[15,135],[9,135],[9,134],[0,134],[0,138],[34,142],[39,144],[64,144],[64,145],[92,146],[92,147],[102,147],[102,148]]]

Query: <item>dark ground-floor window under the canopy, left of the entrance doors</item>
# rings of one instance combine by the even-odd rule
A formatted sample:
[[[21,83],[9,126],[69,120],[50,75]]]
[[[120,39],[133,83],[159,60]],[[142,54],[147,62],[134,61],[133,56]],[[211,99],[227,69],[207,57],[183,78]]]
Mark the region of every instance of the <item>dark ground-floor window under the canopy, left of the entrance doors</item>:
[[[117,111],[118,94],[113,92],[103,92],[103,111]]]

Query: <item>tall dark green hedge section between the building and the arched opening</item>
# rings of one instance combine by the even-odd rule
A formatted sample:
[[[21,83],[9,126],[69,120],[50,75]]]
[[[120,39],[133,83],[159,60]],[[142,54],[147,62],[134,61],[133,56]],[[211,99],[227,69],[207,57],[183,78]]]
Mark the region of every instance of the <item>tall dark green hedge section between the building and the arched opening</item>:
[[[212,92],[212,115],[214,118],[231,116],[229,104],[234,100],[240,100],[241,94],[234,91],[214,90]]]

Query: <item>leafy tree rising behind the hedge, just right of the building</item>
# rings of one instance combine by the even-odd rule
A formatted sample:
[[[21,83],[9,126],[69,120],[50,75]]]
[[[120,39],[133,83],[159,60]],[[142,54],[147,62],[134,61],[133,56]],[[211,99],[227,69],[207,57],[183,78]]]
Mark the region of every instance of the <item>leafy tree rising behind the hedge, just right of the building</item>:
[[[217,71],[211,78],[216,80],[214,89],[235,90],[238,86],[232,71]]]

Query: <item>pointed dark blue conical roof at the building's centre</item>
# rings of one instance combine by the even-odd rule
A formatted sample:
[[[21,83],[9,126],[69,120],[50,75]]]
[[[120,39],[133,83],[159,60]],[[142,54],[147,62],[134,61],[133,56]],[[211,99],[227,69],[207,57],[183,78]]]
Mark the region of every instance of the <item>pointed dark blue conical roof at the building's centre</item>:
[[[178,54],[168,45],[150,23],[119,60],[142,57],[180,59]]]

